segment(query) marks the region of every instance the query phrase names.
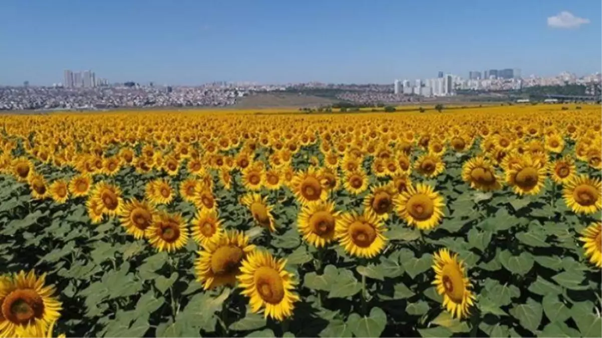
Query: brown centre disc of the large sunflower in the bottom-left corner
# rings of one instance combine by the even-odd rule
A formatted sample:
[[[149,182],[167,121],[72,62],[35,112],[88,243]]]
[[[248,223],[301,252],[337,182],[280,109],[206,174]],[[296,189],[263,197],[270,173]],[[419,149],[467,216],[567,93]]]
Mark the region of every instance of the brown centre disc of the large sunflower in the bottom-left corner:
[[[2,302],[2,316],[17,325],[26,325],[44,314],[44,301],[32,289],[17,289]]]

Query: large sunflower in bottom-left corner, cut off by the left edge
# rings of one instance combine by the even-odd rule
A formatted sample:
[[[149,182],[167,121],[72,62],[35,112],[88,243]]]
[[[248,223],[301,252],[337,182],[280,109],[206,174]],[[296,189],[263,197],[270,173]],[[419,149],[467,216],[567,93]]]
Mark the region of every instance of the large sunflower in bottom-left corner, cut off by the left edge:
[[[0,336],[44,336],[60,318],[62,304],[54,297],[54,285],[45,285],[46,274],[20,271],[0,280]]]

